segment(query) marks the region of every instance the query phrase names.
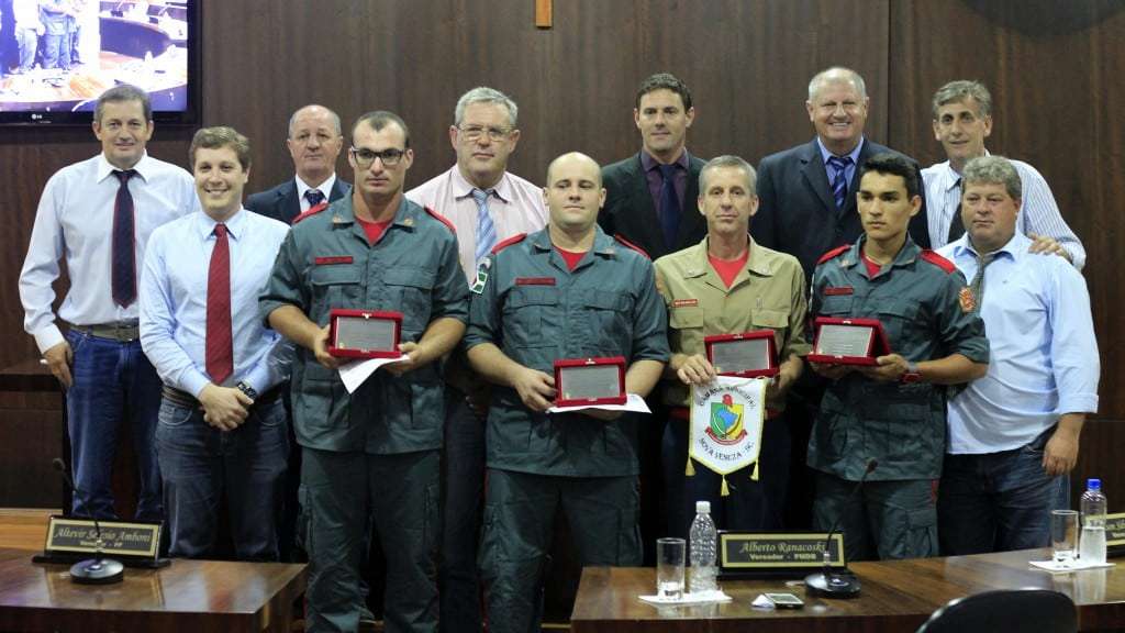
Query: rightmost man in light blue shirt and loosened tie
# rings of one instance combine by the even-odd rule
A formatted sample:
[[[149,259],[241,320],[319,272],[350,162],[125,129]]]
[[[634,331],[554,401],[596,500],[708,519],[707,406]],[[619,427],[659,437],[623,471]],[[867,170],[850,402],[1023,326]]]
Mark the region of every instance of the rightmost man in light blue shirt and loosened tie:
[[[1078,270],[1029,252],[1016,231],[1023,200],[1011,161],[976,158],[962,176],[966,233],[938,252],[971,279],[962,305],[980,311],[992,362],[950,400],[942,553],[1043,547],[1058,478],[1074,467],[1082,424],[1098,408],[1090,297]]]

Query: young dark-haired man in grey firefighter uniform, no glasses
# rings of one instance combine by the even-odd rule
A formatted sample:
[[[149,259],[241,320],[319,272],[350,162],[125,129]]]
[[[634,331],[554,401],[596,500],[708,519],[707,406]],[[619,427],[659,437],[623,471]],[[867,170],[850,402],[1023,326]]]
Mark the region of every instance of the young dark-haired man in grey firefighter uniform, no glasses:
[[[945,455],[945,387],[988,371],[984,324],[964,276],[910,240],[921,207],[918,170],[902,157],[864,163],[864,234],[829,251],[812,275],[812,314],[878,319],[890,351],[873,366],[810,363],[831,381],[809,443],[812,519],[838,519],[848,560],[937,555],[935,491]],[[850,491],[874,460],[863,493]]]

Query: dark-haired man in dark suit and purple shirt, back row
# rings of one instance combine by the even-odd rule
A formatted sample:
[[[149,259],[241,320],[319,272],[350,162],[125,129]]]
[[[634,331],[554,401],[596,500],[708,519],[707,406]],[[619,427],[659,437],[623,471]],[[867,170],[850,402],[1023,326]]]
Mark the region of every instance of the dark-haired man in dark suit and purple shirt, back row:
[[[652,259],[694,246],[706,233],[695,203],[705,161],[684,148],[694,119],[684,82],[666,72],[649,77],[633,109],[641,151],[602,169],[606,195],[597,223]]]

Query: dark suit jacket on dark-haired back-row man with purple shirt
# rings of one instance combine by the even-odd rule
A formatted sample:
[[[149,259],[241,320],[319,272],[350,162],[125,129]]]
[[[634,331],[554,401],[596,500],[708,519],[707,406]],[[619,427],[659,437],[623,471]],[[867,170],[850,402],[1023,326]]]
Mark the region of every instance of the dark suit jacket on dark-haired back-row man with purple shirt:
[[[696,157],[691,157],[688,160],[680,235],[670,249],[664,244],[664,231],[660,230],[652,194],[648,190],[648,179],[645,178],[640,153],[602,169],[605,205],[597,214],[597,223],[606,234],[621,235],[645,249],[654,260],[669,252],[695,246],[706,234],[706,221],[696,204],[700,195],[700,171],[704,164],[706,161]]]

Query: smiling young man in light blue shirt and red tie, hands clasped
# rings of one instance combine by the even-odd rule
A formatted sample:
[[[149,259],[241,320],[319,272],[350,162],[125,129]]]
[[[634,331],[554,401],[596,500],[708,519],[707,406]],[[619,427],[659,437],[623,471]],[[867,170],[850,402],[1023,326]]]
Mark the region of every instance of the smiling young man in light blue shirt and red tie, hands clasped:
[[[204,211],[153,233],[140,298],[141,344],[164,382],[156,453],[170,553],[213,555],[226,497],[238,559],[277,560],[286,348],[258,318],[258,294],[289,228],[242,207],[245,136],[204,128],[189,154]]]

